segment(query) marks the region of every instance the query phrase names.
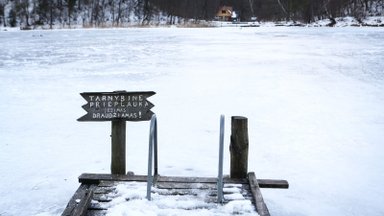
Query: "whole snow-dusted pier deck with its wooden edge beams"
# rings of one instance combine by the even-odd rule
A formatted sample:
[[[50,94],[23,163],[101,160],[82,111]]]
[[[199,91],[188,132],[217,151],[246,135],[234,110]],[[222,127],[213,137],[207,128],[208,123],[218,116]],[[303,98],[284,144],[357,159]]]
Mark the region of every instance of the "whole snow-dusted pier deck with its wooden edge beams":
[[[82,174],[67,215],[269,215],[260,187],[288,188],[284,180],[224,178],[224,202],[217,203],[217,178],[157,176],[152,199],[146,176]],[[261,206],[261,207],[259,207]]]

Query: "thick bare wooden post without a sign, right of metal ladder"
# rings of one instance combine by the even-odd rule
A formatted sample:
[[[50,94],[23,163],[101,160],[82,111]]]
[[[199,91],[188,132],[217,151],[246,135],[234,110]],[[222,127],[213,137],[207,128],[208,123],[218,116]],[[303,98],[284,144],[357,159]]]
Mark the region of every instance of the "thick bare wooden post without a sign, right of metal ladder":
[[[248,174],[248,119],[232,116],[231,122],[231,178],[247,178]]]

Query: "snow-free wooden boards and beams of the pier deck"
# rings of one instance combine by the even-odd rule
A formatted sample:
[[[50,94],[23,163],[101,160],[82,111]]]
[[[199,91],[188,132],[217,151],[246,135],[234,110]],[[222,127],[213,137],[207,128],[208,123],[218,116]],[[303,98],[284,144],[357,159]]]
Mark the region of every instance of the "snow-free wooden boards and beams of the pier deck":
[[[106,206],[103,204],[112,201],[108,194],[113,194],[117,185],[124,182],[146,181],[147,176],[144,175],[82,174],[79,177],[81,185],[69,201],[62,216],[106,215],[108,208],[103,207]],[[239,188],[244,199],[252,202],[255,211],[261,216],[270,214],[260,188],[287,189],[289,187],[285,180],[256,179],[253,172],[248,173],[247,178],[243,179],[224,178],[224,189],[234,187],[234,185]],[[193,195],[197,191],[205,191],[206,197],[202,197],[202,201],[207,204],[217,202],[217,178],[155,176],[154,187],[165,189],[167,192],[162,192],[163,196]],[[230,197],[230,191],[224,193],[225,197]],[[225,198],[223,204],[230,201],[231,198]]]

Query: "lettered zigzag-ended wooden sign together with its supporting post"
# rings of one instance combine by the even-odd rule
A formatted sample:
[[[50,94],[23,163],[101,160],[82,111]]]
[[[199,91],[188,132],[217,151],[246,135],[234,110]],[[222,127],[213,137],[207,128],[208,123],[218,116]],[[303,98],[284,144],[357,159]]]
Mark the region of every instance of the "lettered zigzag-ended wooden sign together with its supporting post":
[[[155,92],[84,92],[87,114],[78,121],[111,121],[111,173],[125,174],[126,121],[148,121],[154,105],[147,100]]]

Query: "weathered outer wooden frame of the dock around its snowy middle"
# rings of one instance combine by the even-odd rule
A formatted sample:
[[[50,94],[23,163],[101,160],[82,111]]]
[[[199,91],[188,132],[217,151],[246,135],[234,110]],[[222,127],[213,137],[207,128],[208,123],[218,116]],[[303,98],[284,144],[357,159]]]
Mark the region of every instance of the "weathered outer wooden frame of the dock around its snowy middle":
[[[105,185],[113,185],[122,182],[146,182],[146,175],[118,175],[118,174],[91,174],[84,173],[79,176],[80,187],[77,189],[69,201],[62,216],[83,216],[83,215],[103,215],[106,209],[98,209],[91,205],[95,191]],[[215,177],[175,177],[157,176],[156,184],[167,189],[200,189],[214,188],[217,184]],[[248,173],[247,178],[232,179],[224,178],[224,184],[242,184],[249,191],[248,197],[255,206],[257,213],[261,216],[268,216],[269,211],[263,200],[260,188],[287,189],[289,184],[285,180],[256,179],[255,173]],[[104,185],[104,186],[103,186]]]

